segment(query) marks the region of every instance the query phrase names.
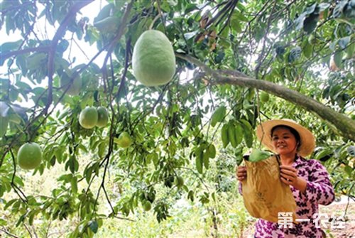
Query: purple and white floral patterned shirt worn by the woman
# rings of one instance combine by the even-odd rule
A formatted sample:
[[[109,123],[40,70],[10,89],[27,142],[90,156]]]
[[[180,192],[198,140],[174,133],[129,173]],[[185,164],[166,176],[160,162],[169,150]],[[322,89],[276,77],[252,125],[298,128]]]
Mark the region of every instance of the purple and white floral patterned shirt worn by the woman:
[[[334,201],[334,188],[329,181],[327,169],[319,161],[314,159],[306,160],[296,156],[293,168],[297,169],[298,176],[307,180],[305,193],[296,190],[290,185],[293,197],[296,201],[297,219],[310,219],[310,221],[298,222],[292,227],[279,227],[278,223],[268,222],[259,219],[256,222],[256,238],[322,238],[321,226],[316,227],[313,220],[315,213],[318,213],[318,205],[329,205]],[[239,192],[242,193],[241,183]]]

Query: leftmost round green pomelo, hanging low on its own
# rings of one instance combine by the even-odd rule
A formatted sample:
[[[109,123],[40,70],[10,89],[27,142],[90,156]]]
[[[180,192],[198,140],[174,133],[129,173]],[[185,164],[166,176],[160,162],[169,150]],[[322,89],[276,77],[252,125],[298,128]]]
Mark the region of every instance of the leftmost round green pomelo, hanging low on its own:
[[[42,150],[37,143],[23,144],[17,152],[18,166],[23,169],[33,169],[42,162]]]

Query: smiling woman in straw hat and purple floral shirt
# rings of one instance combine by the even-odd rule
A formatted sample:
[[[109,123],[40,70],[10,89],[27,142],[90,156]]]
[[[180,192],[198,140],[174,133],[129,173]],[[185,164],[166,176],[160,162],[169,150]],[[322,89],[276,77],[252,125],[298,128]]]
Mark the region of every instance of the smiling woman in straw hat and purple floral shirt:
[[[259,219],[254,237],[324,237],[322,227],[313,219],[318,213],[318,205],[334,201],[334,189],[326,168],[319,161],[305,159],[315,148],[313,134],[294,121],[279,119],[259,125],[256,135],[264,146],[280,156],[280,180],[290,185],[297,205],[297,219],[310,220],[293,224],[293,227],[279,227],[278,223]],[[239,182],[246,179],[246,167],[239,166],[236,175]],[[242,190],[239,183],[239,192]]]

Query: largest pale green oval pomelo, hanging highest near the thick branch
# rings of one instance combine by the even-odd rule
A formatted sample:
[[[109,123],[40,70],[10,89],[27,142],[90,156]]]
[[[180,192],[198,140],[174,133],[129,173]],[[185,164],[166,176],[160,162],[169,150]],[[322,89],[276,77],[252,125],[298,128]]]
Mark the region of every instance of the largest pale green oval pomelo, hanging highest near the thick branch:
[[[164,33],[145,31],[133,48],[133,74],[141,84],[166,85],[175,74],[173,46]]]

